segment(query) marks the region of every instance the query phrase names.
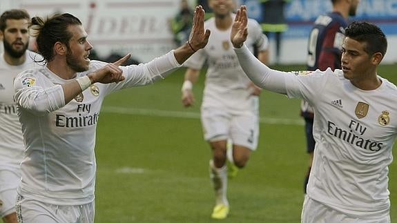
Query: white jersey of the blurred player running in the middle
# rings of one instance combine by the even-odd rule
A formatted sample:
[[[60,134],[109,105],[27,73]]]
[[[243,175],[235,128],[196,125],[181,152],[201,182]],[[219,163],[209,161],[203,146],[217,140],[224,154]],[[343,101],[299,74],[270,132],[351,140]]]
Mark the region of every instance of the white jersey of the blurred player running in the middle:
[[[233,14],[234,18],[234,14]],[[227,110],[253,110],[258,106],[257,100],[250,97],[250,80],[244,74],[230,41],[231,28],[218,30],[215,18],[205,22],[205,28],[211,30],[209,43],[185,61],[184,66],[200,70],[207,61],[203,107],[225,108]],[[249,35],[246,45],[253,52],[253,45],[258,51],[267,50],[268,39],[262,34],[258,22],[249,19]]]

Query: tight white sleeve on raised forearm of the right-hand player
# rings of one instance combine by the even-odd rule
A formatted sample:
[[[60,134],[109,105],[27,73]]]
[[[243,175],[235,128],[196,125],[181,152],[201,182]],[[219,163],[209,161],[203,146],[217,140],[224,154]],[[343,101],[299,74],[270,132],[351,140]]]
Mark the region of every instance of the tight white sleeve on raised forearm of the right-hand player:
[[[285,75],[289,75],[287,72],[272,70],[262,64],[245,45],[241,48],[235,48],[234,50],[240,62],[240,66],[256,86],[271,90],[275,93],[287,93],[284,79]]]

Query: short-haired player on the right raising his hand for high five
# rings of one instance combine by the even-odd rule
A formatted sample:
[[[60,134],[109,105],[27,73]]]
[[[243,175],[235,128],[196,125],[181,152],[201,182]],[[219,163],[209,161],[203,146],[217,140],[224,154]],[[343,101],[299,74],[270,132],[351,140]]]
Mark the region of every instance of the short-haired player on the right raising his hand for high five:
[[[385,34],[374,24],[353,22],[345,30],[342,70],[299,75],[271,70],[253,57],[244,46],[247,19],[242,6],[231,35],[246,75],[261,88],[309,101],[316,114],[302,222],[389,223],[397,88],[377,72],[387,50]]]

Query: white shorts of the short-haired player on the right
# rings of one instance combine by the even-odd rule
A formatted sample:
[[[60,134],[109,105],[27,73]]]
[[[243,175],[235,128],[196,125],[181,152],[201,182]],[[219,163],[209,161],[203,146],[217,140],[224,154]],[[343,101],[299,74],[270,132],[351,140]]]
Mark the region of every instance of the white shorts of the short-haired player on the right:
[[[302,223],[390,223],[390,215],[382,215],[377,219],[362,219],[346,215],[329,206],[304,197],[302,209]]]

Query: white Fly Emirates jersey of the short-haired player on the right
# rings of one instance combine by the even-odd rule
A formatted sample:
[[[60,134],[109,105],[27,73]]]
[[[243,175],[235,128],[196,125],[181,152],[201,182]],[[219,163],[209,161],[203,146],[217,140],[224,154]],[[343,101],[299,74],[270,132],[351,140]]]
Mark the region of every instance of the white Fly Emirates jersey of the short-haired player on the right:
[[[389,214],[387,177],[397,136],[397,88],[382,77],[376,90],[360,90],[342,70],[292,75],[271,70],[246,47],[235,49],[255,84],[313,105],[316,139],[307,195],[350,216]]]

